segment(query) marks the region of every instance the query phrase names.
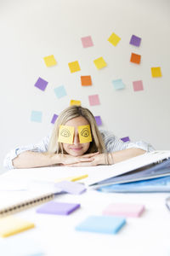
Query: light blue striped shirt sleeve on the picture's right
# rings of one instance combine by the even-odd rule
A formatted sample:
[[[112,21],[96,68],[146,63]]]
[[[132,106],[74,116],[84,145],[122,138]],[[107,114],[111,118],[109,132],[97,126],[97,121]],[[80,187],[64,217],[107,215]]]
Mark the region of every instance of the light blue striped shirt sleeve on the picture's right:
[[[116,152],[119,150],[127,148],[140,148],[146,152],[154,151],[155,149],[150,145],[150,143],[145,143],[143,141],[139,142],[127,142],[124,143],[120,138],[116,137],[111,131],[100,131],[104,139],[105,148],[108,153]]]

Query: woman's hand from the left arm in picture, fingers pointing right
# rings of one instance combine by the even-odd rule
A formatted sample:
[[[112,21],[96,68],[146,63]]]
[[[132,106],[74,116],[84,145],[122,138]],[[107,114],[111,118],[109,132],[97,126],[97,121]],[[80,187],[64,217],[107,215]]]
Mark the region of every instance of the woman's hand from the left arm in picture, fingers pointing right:
[[[61,166],[71,166],[74,164],[80,163],[89,163],[94,160],[94,157],[98,155],[99,152],[91,153],[91,154],[83,154],[80,156],[72,156],[71,154],[60,154],[60,165]]]

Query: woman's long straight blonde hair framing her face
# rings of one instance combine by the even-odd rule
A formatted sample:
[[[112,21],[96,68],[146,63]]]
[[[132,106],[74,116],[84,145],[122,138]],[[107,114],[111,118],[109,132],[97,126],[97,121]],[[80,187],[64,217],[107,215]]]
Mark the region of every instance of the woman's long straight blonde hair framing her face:
[[[90,143],[90,146],[86,154],[94,153],[94,152],[99,152],[99,153],[105,152],[105,143],[99,132],[93,113],[91,113],[88,110],[88,108],[82,108],[80,106],[71,106],[71,107],[65,108],[65,110],[63,110],[59,114],[59,117],[54,124],[54,130],[52,132],[52,136],[50,138],[49,145],[48,145],[48,153],[55,153],[55,154],[65,153],[62,143],[58,142],[59,125],[65,125],[66,122],[68,122],[69,120],[75,119],[79,116],[82,116],[83,118],[87,119],[91,127],[93,141]]]

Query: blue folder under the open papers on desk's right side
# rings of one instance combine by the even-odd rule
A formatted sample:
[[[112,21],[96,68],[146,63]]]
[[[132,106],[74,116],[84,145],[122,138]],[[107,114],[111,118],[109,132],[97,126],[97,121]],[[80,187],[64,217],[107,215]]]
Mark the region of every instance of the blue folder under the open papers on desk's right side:
[[[109,193],[170,192],[170,176],[156,177],[131,183],[104,185],[97,190]]]

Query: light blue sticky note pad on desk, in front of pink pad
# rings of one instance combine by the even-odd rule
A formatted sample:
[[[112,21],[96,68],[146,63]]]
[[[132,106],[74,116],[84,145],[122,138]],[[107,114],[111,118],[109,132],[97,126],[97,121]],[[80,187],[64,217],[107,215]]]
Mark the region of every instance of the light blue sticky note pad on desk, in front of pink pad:
[[[77,225],[76,230],[116,234],[124,224],[126,224],[126,219],[122,217],[89,216],[81,224]]]

